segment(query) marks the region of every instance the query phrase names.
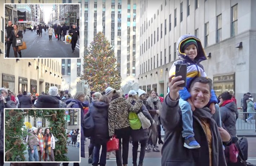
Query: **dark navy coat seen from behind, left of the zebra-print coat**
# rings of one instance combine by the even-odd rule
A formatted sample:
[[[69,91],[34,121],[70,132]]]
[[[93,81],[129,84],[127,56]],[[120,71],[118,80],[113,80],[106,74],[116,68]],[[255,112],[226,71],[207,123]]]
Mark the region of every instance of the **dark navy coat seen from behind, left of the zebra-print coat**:
[[[109,139],[108,127],[108,108],[109,104],[104,102],[92,102],[88,113],[84,116],[84,120],[88,116],[92,116],[94,121],[94,133],[91,136],[94,144],[105,144]]]

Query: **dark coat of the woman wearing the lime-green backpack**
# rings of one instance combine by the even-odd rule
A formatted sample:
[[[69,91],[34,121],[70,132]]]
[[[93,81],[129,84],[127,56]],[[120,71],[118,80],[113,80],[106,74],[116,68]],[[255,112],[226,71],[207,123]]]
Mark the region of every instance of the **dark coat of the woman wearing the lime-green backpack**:
[[[134,106],[135,103],[136,103],[136,100],[132,100],[131,104],[133,106]],[[140,112],[142,112],[143,115],[150,120],[150,123],[152,125],[153,124],[153,118],[149,114],[149,111],[147,111],[147,108],[144,104],[142,104],[140,111],[138,111],[137,113],[140,113]],[[142,127],[139,130],[131,130],[132,141],[138,142],[138,141],[146,140],[147,139],[147,133],[148,133],[148,129],[142,129]]]

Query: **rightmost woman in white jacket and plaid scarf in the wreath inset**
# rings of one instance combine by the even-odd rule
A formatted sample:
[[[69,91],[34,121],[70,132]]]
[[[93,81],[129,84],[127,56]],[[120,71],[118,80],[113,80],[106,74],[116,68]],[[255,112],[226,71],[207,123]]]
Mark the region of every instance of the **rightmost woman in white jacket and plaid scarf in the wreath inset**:
[[[43,160],[48,161],[55,161],[54,159],[54,152],[55,149],[55,139],[53,134],[50,132],[49,128],[46,128],[44,130],[44,154],[43,154]]]

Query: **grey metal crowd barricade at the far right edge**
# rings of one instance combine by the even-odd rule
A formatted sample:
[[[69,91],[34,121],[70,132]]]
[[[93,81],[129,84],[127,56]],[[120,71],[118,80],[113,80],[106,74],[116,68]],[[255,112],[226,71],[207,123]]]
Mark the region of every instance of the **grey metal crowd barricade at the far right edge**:
[[[245,119],[250,118],[246,121]],[[256,132],[256,112],[239,112],[238,119],[235,124],[237,130],[254,130]]]

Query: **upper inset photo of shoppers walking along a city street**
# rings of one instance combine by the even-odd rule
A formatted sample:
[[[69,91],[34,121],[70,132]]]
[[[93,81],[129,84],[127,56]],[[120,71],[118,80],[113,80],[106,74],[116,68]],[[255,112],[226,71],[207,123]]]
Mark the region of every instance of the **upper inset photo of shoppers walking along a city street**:
[[[5,58],[80,58],[80,4],[4,4]]]

